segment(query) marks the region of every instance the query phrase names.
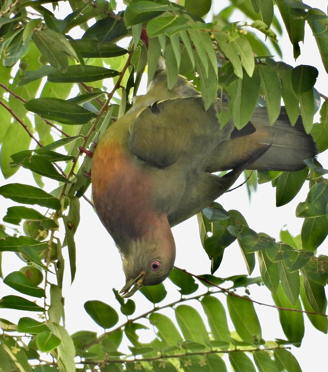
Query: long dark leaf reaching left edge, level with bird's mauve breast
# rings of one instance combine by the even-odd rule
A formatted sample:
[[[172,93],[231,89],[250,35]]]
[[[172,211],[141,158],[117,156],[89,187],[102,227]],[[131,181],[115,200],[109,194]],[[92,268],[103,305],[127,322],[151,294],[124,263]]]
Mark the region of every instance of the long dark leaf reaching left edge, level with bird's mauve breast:
[[[23,204],[38,204],[52,209],[60,209],[60,201],[38,187],[9,183],[0,187],[0,195]]]

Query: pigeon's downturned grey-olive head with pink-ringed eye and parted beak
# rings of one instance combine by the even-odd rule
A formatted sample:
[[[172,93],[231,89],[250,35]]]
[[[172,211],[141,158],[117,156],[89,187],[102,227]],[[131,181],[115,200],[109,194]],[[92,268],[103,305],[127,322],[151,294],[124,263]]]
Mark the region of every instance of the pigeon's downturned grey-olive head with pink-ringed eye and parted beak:
[[[142,286],[163,282],[172,270],[176,247],[167,217],[163,214],[154,222],[141,238],[119,247],[126,279],[122,297],[131,297]]]

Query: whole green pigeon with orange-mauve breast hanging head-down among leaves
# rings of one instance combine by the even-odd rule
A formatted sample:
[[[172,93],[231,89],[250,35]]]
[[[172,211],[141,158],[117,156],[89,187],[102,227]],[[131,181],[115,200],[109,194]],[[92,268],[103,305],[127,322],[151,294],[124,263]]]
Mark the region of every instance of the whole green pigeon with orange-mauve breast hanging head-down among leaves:
[[[266,108],[256,107],[238,130],[232,119],[225,126],[217,119],[226,101],[222,95],[205,110],[190,81],[179,75],[168,90],[167,72],[158,70],[147,93],[98,141],[93,202],[122,258],[123,297],[167,278],[176,255],[171,227],[202,211],[242,171],[296,171],[316,155],[301,117],[292,126],[283,106],[273,125]]]

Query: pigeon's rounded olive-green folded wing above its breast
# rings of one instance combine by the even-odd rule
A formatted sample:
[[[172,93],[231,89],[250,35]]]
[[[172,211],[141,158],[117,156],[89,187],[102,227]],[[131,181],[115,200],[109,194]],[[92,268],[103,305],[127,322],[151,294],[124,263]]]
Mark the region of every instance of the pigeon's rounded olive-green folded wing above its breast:
[[[129,147],[152,166],[165,168],[180,157],[210,152],[229,130],[220,130],[214,106],[205,111],[200,97],[168,99],[139,113],[129,128]]]

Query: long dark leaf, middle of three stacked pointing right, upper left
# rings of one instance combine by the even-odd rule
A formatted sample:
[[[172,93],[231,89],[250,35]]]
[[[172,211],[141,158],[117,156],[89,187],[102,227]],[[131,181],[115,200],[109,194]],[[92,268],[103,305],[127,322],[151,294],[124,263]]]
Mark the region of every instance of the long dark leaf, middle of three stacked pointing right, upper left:
[[[51,83],[89,83],[91,81],[103,80],[109,77],[118,76],[119,72],[109,68],[92,65],[71,65],[65,72],[52,70],[48,74],[48,81]]]

